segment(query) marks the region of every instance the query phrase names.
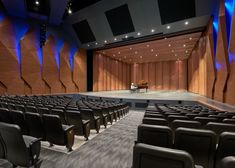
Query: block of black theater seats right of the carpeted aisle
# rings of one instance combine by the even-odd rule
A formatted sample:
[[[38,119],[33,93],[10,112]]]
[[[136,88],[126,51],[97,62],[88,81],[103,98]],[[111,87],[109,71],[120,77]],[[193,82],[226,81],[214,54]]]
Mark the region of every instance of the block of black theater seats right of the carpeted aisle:
[[[189,167],[194,164],[204,168],[235,167],[235,125],[222,123],[223,120],[207,123],[187,117],[201,112],[207,113],[208,118],[210,113],[233,118],[233,113],[220,113],[201,105],[147,108],[143,124],[138,127],[133,167],[141,164],[141,168],[149,168],[157,164],[160,168],[170,168],[176,160]]]

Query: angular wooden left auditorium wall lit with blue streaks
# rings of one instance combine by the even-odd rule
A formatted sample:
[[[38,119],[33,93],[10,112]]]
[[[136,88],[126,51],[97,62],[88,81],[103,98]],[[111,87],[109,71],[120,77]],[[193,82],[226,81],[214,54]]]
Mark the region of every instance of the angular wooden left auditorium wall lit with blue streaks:
[[[85,50],[71,55],[70,45],[64,42],[57,51],[53,35],[40,50],[39,32],[17,24],[7,16],[0,20],[0,95],[86,91]]]

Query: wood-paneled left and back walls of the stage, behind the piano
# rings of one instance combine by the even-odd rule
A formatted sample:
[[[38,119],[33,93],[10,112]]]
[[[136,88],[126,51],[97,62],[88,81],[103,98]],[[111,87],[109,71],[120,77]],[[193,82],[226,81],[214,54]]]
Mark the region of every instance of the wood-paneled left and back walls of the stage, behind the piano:
[[[187,90],[187,60],[126,64],[100,53],[93,59],[93,91],[129,89],[140,80],[151,90]]]

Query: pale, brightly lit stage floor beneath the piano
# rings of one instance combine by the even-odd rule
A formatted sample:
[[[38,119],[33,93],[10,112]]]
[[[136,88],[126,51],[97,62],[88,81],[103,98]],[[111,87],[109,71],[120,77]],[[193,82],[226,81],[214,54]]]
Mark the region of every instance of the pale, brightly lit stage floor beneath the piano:
[[[86,96],[104,97],[104,98],[123,98],[123,99],[147,99],[147,100],[182,100],[182,101],[198,101],[203,104],[216,107],[221,110],[235,111],[235,106],[224,104],[198,94],[186,91],[148,91],[145,89],[139,93],[131,93],[129,90],[119,91],[101,91],[101,92],[84,92],[80,93]]]

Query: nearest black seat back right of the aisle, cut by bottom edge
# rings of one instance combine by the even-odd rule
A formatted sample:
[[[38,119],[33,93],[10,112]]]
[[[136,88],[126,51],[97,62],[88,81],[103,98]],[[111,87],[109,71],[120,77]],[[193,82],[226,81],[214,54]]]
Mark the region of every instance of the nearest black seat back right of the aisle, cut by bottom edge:
[[[133,150],[132,168],[194,168],[194,162],[185,151],[138,143]]]

